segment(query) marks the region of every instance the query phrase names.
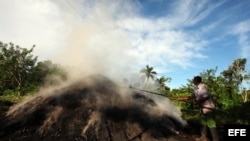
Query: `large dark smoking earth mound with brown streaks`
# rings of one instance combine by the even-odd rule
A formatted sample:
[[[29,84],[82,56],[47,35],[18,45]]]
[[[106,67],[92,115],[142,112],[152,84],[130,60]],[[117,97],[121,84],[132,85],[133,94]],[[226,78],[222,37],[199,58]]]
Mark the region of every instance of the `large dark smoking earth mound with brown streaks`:
[[[176,110],[169,105],[165,108]],[[178,134],[183,125],[176,112],[162,110],[152,97],[93,75],[12,106],[1,121],[0,139],[181,140]]]

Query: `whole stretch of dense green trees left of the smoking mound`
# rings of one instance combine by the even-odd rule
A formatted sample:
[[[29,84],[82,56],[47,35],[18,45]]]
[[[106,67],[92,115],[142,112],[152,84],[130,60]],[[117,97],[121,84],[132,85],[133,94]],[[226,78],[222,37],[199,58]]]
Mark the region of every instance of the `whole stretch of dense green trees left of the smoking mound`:
[[[36,91],[49,81],[55,83],[52,76],[66,79],[66,72],[51,61],[37,61],[31,49],[22,48],[13,43],[5,44],[0,41],[0,96],[19,99]],[[5,97],[4,97],[5,96]],[[15,100],[14,100],[15,101]]]

